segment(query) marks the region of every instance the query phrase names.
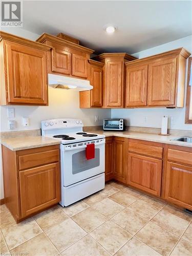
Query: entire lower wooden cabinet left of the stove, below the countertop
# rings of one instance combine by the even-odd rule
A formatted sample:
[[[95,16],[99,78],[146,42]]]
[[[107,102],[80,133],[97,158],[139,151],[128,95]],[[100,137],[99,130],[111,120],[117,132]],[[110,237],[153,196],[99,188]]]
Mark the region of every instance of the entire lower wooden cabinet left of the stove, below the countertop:
[[[19,151],[2,146],[2,156],[5,204],[17,222],[60,201],[59,145]]]

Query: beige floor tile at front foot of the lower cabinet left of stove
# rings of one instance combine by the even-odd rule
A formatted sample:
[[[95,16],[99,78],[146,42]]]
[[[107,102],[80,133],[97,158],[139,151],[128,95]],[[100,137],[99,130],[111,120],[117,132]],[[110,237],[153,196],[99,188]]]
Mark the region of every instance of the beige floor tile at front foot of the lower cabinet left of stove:
[[[2,233],[11,250],[27,240],[36,237],[38,234],[42,233],[42,230],[33,218],[29,218],[19,224],[14,224],[2,229]]]

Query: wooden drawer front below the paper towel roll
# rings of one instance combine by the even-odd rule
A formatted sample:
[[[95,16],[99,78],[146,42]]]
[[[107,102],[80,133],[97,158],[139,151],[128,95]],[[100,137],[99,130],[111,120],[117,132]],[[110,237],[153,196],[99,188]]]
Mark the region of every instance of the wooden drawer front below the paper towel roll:
[[[157,158],[163,157],[163,148],[158,146],[129,142],[129,151]]]

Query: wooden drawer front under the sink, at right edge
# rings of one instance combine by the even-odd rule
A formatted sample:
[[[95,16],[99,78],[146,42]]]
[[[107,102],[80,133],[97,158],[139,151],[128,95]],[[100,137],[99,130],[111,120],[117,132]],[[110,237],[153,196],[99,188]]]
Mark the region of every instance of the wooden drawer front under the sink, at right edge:
[[[167,160],[192,165],[192,150],[190,153],[168,148]]]

